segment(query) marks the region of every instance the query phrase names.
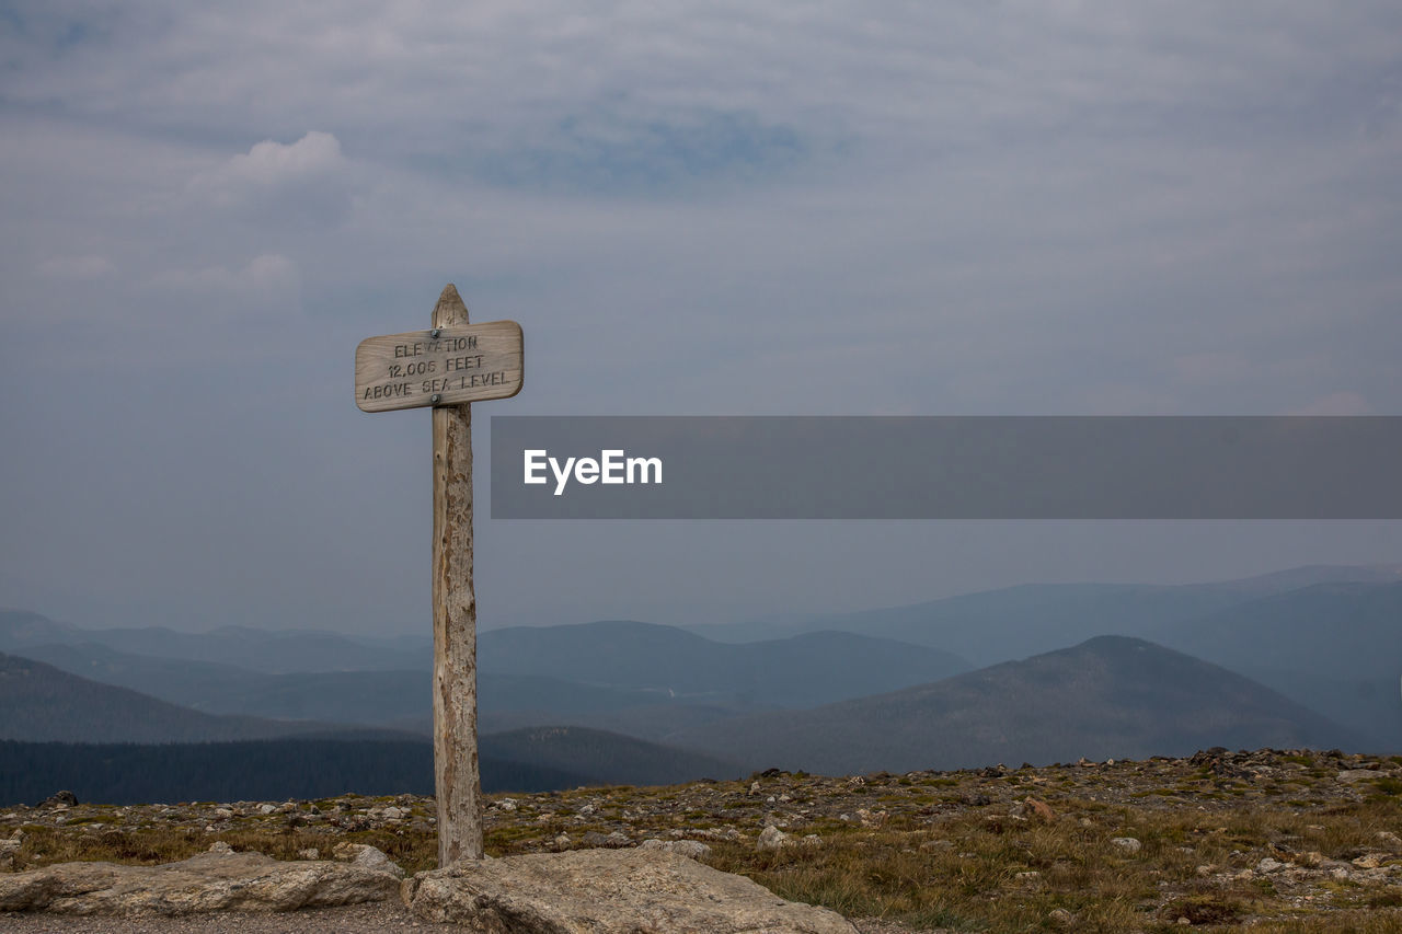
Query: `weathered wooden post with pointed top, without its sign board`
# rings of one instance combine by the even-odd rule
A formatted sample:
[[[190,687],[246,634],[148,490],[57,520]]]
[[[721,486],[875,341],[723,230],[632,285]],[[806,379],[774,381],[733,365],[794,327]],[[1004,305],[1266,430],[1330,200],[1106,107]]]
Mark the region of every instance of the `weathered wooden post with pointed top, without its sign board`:
[[[433,309],[433,327],[467,323],[467,306],[449,283]],[[481,860],[470,402],[433,410],[433,788],[439,865]]]

